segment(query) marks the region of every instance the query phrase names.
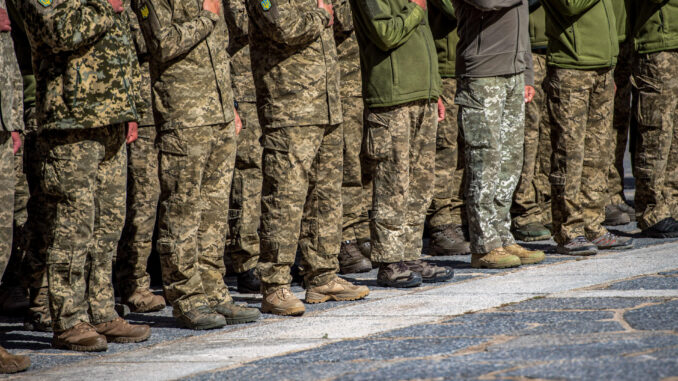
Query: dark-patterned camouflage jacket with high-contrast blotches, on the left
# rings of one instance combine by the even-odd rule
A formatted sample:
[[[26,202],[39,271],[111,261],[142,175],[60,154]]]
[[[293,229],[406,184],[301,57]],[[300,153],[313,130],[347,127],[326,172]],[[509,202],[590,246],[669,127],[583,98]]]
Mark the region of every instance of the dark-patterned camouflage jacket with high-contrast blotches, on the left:
[[[124,14],[106,0],[21,1],[41,129],[139,119],[139,63]]]

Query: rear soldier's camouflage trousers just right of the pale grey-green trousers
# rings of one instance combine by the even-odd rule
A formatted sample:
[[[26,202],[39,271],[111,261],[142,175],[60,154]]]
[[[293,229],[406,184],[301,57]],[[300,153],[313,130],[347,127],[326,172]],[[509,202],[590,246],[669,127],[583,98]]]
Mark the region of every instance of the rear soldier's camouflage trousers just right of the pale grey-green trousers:
[[[547,171],[551,161],[551,126],[544,93],[546,56],[533,53],[532,62],[535,95],[532,102],[525,105],[523,168],[511,206],[512,223],[516,228],[551,222],[551,184]],[[544,168],[545,164],[548,164],[547,168]]]

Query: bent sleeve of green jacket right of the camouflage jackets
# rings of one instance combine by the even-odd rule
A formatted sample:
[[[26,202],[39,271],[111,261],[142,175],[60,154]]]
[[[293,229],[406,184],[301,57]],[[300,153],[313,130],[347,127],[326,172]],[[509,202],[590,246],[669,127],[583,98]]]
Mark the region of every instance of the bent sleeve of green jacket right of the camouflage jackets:
[[[388,51],[407,42],[426,17],[426,11],[408,3],[392,12],[388,0],[356,0],[354,12],[367,28],[367,36],[377,48]]]

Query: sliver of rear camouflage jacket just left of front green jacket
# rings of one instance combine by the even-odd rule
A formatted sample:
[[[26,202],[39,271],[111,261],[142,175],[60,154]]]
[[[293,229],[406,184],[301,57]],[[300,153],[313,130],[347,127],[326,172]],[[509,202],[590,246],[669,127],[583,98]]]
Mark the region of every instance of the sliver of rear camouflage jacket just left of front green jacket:
[[[341,70],[341,96],[361,97],[360,49],[353,29],[353,14],[348,0],[332,1],[334,7],[334,41]]]

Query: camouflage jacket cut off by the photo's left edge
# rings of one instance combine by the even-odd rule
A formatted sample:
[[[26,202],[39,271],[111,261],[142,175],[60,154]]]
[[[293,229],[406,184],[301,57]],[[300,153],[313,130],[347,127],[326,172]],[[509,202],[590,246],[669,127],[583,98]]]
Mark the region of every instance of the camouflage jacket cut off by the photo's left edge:
[[[5,0],[0,8],[7,9]],[[23,85],[10,32],[0,32],[0,131],[21,131],[24,125]]]

